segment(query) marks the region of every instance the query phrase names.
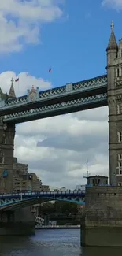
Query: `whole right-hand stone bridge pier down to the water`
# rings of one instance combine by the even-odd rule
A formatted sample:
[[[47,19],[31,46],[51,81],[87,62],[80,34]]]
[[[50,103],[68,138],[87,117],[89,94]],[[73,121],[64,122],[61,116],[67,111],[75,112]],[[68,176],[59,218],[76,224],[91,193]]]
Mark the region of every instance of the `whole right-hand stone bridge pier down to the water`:
[[[122,247],[122,187],[87,187],[81,245]]]

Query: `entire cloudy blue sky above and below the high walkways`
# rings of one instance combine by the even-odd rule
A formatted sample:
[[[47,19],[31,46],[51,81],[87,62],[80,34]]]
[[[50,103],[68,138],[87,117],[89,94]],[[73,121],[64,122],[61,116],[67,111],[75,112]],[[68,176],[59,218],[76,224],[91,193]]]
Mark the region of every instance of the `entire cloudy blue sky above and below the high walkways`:
[[[2,91],[17,76],[16,95],[25,95],[105,74],[112,20],[118,41],[122,0],[1,0]],[[18,124],[14,154],[54,187],[85,184],[87,167],[108,176],[108,107]]]

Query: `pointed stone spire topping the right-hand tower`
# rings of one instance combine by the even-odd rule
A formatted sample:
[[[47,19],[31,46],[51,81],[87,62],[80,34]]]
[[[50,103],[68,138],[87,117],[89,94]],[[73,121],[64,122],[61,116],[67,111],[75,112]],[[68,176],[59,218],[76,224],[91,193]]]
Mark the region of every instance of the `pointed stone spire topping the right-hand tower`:
[[[110,35],[110,38],[109,38],[109,44],[108,44],[108,47],[107,47],[107,51],[108,50],[117,50],[118,49],[118,45],[116,43],[116,37],[115,37],[115,34],[114,34],[114,24],[113,24],[113,21],[111,23],[111,35]]]

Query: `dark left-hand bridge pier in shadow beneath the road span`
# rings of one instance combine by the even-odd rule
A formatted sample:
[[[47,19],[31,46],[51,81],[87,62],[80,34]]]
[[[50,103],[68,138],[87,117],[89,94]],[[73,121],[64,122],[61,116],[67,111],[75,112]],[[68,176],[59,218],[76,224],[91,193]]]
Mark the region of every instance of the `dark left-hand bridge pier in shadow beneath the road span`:
[[[35,234],[35,218],[30,207],[0,212],[0,236],[31,236]]]

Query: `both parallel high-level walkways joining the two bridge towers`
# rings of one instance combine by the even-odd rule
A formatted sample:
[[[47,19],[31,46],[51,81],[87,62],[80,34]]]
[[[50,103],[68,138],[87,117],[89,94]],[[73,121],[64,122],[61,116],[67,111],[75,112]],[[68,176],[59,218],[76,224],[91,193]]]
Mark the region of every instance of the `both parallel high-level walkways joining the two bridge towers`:
[[[4,123],[17,124],[106,105],[105,75],[40,92],[38,87],[32,87],[28,95],[2,100],[0,116],[3,116]]]

